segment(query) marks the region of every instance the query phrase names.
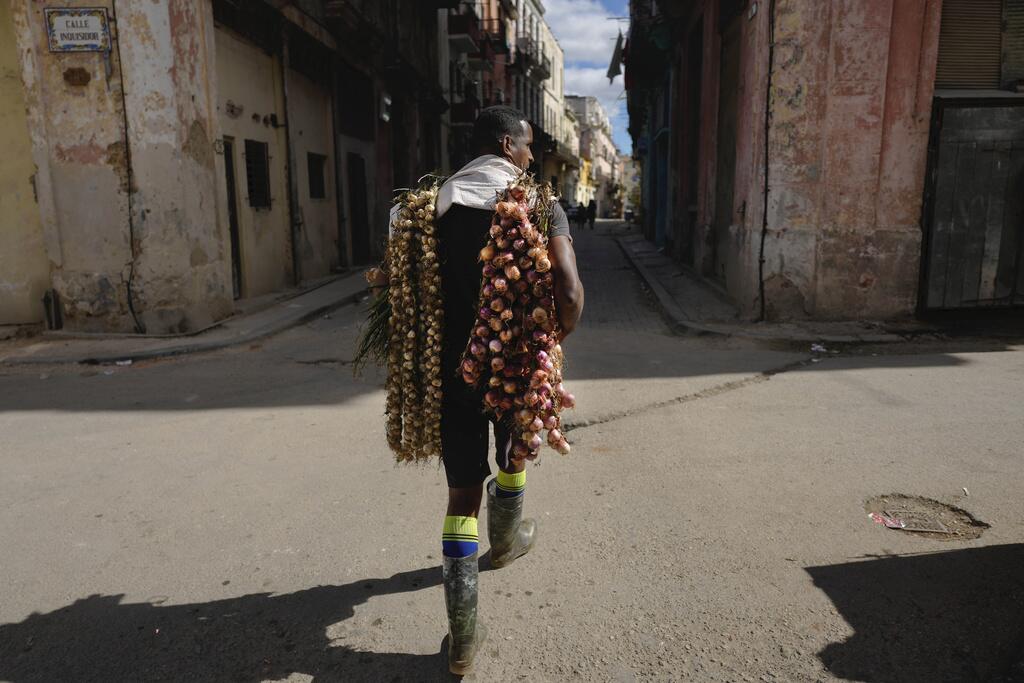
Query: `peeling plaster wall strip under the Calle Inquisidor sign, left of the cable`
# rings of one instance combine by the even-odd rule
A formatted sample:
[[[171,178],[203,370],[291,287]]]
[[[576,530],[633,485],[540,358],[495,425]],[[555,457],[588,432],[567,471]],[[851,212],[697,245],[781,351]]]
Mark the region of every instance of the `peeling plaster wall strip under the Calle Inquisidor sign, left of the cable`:
[[[110,9],[90,0],[61,6]],[[53,288],[66,327],[128,332],[124,280],[132,255],[120,69],[99,52],[49,52],[43,7],[11,3]],[[66,81],[72,70],[86,77],[76,82],[88,82]]]

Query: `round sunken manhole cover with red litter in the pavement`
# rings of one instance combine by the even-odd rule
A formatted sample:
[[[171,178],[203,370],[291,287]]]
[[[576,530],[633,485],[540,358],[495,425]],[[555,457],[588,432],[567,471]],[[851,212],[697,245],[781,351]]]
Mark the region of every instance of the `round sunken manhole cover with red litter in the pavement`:
[[[988,528],[967,510],[920,496],[879,496],[868,500],[864,509],[886,526],[940,541],[970,541]]]

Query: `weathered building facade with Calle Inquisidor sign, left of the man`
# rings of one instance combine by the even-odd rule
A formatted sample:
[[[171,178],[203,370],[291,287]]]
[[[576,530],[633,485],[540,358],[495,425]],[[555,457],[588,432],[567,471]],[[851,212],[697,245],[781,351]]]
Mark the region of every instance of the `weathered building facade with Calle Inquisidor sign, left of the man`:
[[[378,255],[441,165],[427,4],[5,3],[0,325],[194,332]]]

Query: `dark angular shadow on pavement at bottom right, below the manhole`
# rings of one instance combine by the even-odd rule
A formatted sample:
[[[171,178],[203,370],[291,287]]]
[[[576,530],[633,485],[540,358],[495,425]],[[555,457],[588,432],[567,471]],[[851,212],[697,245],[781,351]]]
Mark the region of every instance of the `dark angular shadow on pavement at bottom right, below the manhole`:
[[[1022,655],[1024,544],[808,567],[855,633],[818,652],[856,681],[993,681]]]

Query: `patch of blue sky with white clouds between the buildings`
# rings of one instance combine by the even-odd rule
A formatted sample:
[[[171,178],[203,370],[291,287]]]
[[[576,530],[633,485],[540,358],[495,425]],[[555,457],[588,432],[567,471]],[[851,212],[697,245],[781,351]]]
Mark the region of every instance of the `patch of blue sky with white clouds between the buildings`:
[[[605,73],[611,61],[615,38],[625,22],[609,20],[609,16],[629,16],[628,0],[543,0],[551,32],[565,53],[565,94],[592,95],[601,100],[611,119],[611,132],[622,153],[633,148],[627,132],[626,94],[623,76],[610,85]]]

